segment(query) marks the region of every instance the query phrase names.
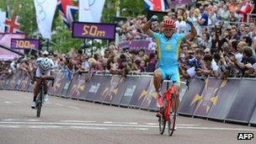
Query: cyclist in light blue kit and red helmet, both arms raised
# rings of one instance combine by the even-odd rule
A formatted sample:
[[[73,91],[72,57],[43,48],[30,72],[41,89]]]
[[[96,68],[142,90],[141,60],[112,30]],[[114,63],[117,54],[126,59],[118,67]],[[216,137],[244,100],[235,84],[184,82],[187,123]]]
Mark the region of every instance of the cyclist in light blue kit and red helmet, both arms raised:
[[[158,57],[158,68],[154,72],[154,87],[158,93],[157,106],[163,107],[162,93],[160,92],[161,83],[167,76],[171,77],[174,82],[179,81],[179,47],[181,42],[185,39],[193,38],[197,35],[196,29],[191,22],[187,22],[191,26],[191,31],[188,34],[175,33],[176,24],[173,19],[163,19],[161,23],[162,33],[153,32],[150,27],[153,21],[157,20],[157,16],[147,21],[142,28],[144,33],[154,38],[157,43],[157,57]],[[176,108],[179,108],[179,83],[175,84],[176,87]],[[157,116],[161,113],[158,112]]]

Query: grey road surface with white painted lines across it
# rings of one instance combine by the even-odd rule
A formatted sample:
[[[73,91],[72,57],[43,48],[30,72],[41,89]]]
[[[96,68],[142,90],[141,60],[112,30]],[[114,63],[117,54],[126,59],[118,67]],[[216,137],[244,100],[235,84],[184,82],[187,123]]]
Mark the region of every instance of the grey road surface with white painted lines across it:
[[[30,109],[32,93],[0,91],[0,143],[256,143],[256,127],[177,117],[173,136],[158,132],[154,112],[51,97],[41,117]],[[237,134],[252,132],[250,141]]]

